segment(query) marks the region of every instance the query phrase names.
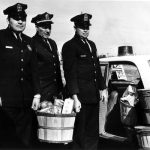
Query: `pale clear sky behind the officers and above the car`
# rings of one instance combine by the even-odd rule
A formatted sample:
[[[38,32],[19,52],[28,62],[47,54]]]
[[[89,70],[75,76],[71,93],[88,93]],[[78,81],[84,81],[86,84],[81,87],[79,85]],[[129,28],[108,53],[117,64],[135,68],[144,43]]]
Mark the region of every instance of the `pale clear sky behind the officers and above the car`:
[[[92,14],[89,39],[98,54],[117,55],[118,46],[133,46],[135,54],[150,54],[150,1],[113,0],[0,0],[0,29],[7,27],[3,10],[17,2],[28,5],[25,34],[36,32],[31,19],[37,14],[54,14],[51,38],[61,52],[62,45],[74,36],[70,19],[78,14]]]

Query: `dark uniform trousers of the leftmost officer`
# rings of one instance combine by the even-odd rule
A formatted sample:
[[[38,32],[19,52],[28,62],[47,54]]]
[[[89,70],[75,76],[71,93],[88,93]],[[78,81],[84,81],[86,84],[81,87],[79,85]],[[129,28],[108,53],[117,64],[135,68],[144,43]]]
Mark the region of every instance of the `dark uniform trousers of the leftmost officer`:
[[[34,119],[33,119],[34,118]],[[30,148],[32,141],[36,139],[36,131],[33,130],[35,114],[31,108],[0,108],[0,141],[2,147]]]

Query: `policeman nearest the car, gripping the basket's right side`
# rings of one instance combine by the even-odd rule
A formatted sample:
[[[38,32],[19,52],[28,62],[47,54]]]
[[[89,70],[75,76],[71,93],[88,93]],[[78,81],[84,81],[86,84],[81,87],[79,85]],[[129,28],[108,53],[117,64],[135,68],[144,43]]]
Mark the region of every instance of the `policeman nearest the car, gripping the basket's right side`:
[[[95,43],[87,38],[91,18],[92,15],[87,13],[73,17],[75,36],[62,47],[66,87],[77,112],[73,148],[84,150],[97,149],[99,100],[107,101],[97,49]]]

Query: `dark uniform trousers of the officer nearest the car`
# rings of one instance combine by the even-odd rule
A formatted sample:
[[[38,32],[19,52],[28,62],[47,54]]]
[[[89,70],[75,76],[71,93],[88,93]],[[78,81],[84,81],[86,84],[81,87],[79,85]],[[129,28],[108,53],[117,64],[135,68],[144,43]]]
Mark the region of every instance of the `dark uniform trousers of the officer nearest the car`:
[[[99,104],[81,104],[76,116],[73,150],[97,150],[99,141]]]

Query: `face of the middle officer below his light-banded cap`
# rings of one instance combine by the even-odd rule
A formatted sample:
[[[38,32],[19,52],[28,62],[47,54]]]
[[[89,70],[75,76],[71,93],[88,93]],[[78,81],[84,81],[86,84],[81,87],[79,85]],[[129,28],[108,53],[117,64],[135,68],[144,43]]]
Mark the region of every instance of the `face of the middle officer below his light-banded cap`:
[[[37,32],[43,38],[48,38],[51,34],[51,26],[37,26]]]

